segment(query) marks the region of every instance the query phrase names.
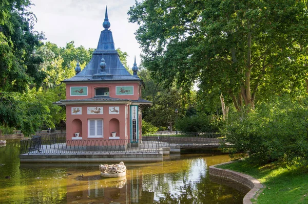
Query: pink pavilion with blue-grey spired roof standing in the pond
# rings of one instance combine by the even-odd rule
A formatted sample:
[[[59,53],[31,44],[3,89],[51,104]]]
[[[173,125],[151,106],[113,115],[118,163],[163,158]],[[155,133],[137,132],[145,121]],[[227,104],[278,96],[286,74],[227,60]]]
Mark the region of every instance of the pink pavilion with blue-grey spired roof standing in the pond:
[[[131,75],[121,63],[108,30],[107,8],[104,30],[89,64],[66,84],[66,140],[141,140],[141,108],[151,102],[141,98],[143,81],[135,62]]]

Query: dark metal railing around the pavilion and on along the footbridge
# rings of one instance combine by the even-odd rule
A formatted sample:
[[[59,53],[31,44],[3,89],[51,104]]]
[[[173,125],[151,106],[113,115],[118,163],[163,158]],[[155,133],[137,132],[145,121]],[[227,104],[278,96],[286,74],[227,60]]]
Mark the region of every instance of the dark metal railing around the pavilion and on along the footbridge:
[[[170,146],[200,147],[219,145],[224,138],[218,133],[148,134],[142,140],[66,140],[65,133],[35,135],[21,140],[21,154],[78,153],[153,153]]]

